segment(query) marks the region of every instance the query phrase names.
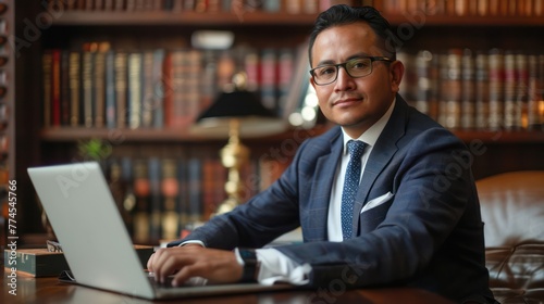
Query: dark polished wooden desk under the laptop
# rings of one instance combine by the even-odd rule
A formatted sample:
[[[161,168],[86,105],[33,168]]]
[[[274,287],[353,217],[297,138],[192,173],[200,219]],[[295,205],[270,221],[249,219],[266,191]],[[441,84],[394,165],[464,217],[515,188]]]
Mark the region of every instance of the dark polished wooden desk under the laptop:
[[[17,276],[16,295],[9,293],[10,280],[3,273],[3,282],[0,288],[0,303],[123,303],[123,304],[145,304],[145,303],[199,303],[199,304],[306,304],[306,303],[417,303],[417,304],[446,304],[452,303],[436,294],[408,288],[387,289],[361,289],[346,292],[325,291],[274,291],[252,294],[217,295],[208,297],[194,297],[173,301],[147,301],[128,295],[118,294],[108,291],[96,290],[87,287],[61,283],[57,278],[32,278]]]

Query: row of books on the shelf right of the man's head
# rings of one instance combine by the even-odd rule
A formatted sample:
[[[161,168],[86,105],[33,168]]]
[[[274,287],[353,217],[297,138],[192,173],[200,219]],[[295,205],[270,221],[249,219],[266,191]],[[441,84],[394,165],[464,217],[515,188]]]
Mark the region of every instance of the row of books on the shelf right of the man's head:
[[[401,94],[450,129],[521,130],[544,125],[544,53],[491,49],[398,54]]]

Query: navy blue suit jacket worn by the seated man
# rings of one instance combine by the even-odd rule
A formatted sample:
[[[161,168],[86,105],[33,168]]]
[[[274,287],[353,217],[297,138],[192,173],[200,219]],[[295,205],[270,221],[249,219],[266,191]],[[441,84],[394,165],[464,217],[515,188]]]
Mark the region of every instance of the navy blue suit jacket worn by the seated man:
[[[397,96],[361,178],[355,236],[329,242],[327,211],[342,137],[341,128],[334,127],[306,140],[269,189],[234,212],[213,217],[183,241],[198,239],[228,250],[259,248],[301,226],[302,244],[277,249],[312,266],[311,287],[337,292],[404,284],[459,302],[491,301],[483,224],[467,147]],[[361,213],[367,202],[380,197],[390,199]]]

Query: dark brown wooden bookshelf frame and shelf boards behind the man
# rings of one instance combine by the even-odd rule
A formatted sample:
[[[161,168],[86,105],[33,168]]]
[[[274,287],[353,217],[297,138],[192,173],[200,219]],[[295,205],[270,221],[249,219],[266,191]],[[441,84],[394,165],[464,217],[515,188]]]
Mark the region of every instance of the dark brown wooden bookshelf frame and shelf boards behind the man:
[[[457,3],[456,1],[449,1],[449,3]],[[29,190],[26,191],[27,193],[21,193],[20,200],[34,203],[36,203],[36,199],[30,191],[32,185],[27,179],[26,168],[62,161],[71,162],[73,153],[76,151],[76,144],[81,140],[101,139],[108,141],[112,137],[115,139],[116,136],[122,136],[126,147],[121,144],[118,154],[127,152],[131,155],[138,153],[152,155],[154,149],[159,151],[157,155],[161,156],[175,155],[176,151],[190,150],[193,154],[201,153],[211,155],[211,157],[217,156],[218,150],[226,142],[226,138],[210,139],[195,136],[187,127],[119,128],[112,130],[81,125],[75,127],[44,126],[41,56],[46,50],[74,49],[83,42],[102,40],[110,40],[115,50],[124,47],[129,50],[137,48],[186,48],[189,46],[191,33],[196,29],[231,30],[235,35],[235,45],[245,45],[258,50],[264,48],[295,49],[307,38],[318,14],[318,12],[288,13],[285,10],[265,12],[255,8],[238,13],[188,10],[181,12],[164,10],[114,12],[79,9],[64,10],[62,14],[52,18],[50,26],[38,28],[36,18],[46,10],[41,3],[39,1],[33,4],[23,4],[22,1],[15,2],[13,5],[17,11],[16,25],[18,30],[15,36],[23,37],[28,42],[21,45],[20,58],[16,61],[16,128],[17,138],[22,140],[16,141],[15,174],[22,187]],[[399,38],[403,50],[432,49],[443,52],[449,48],[470,48],[473,50],[503,48],[544,54],[542,40],[544,15],[540,13],[531,15],[528,9],[519,9],[523,13],[517,15],[474,15],[470,13],[459,15],[450,11],[431,14],[422,9],[399,13],[395,11],[396,8],[387,7],[392,2],[397,2],[407,8],[409,3],[419,3],[419,0],[346,0],[344,2],[373,2],[390,20],[394,26],[394,33],[403,34],[401,30],[408,30],[404,33],[405,36]],[[423,2],[429,1],[421,3]],[[469,2],[471,1],[463,1],[463,3]],[[28,23],[36,26],[36,34],[32,31]],[[34,36],[29,36],[29,33]],[[39,38],[35,38],[38,36]],[[541,96],[543,94],[544,92]],[[305,135],[317,136],[327,128],[326,125],[318,125],[306,130]],[[243,139],[243,141],[252,148],[252,152],[255,152],[252,157],[259,159],[261,155],[259,153],[267,153],[273,147],[281,147],[282,143],[292,140],[294,131],[296,129],[263,138]],[[454,132],[468,144],[480,142],[487,149],[485,154],[474,156],[473,167],[477,178],[514,169],[544,169],[544,162],[541,161],[542,155],[544,155],[542,126],[531,130],[455,129]],[[137,152],[139,150],[145,152]],[[26,224],[32,223],[27,225],[29,232],[37,232],[41,229],[37,204],[29,204],[23,216]]]

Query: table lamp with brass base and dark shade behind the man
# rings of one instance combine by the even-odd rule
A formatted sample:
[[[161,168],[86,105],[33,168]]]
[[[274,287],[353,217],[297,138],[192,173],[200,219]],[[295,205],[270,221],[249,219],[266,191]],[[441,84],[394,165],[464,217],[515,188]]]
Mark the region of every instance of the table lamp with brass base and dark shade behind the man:
[[[224,138],[228,143],[221,149],[220,156],[228,169],[225,191],[227,198],[217,208],[215,214],[232,211],[240,202],[240,168],[249,161],[249,149],[240,142],[240,137],[261,137],[286,129],[286,124],[264,107],[259,98],[246,90],[247,76],[237,73],[233,84],[213,101],[196,119],[191,132],[207,137]]]

